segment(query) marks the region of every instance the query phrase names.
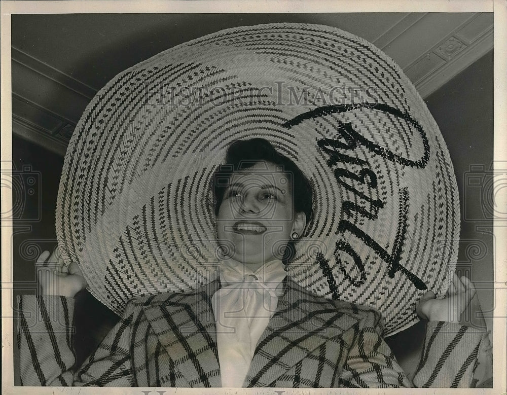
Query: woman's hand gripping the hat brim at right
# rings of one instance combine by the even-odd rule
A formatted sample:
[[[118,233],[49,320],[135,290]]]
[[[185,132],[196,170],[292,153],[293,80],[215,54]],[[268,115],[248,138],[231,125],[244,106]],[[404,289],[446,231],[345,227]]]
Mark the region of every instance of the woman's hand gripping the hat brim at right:
[[[444,299],[436,299],[435,294],[428,291],[419,300],[417,314],[429,321],[447,321],[461,324],[461,316],[472,304],[476,289],[467,277],[459,278],[454,273],[453,280]],[[480,307],[479,307],[480,308]]]

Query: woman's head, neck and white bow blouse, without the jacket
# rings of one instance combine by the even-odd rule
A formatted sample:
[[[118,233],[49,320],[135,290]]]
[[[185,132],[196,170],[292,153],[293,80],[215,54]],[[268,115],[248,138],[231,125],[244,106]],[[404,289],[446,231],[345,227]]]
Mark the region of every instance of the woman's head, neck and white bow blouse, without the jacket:
[[[211,299],[216,345],[222,386],[241,387],[283,295],[282,260],[311,217],[312,193],[295,163],[262,138],[232,143],[213,187],[223,257],[222,288]]]

